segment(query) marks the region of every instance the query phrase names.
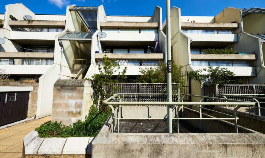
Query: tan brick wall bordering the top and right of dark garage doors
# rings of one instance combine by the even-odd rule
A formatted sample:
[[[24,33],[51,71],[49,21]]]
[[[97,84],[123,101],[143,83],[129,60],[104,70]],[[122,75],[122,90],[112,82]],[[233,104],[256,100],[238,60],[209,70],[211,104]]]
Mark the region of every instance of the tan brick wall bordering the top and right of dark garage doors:
[[[36,116],[39,83],[18,82],[18,81],[0,81],[0,86],[33,87],[33,91],[30,92],[30,96],[29,96],[27,118]]]

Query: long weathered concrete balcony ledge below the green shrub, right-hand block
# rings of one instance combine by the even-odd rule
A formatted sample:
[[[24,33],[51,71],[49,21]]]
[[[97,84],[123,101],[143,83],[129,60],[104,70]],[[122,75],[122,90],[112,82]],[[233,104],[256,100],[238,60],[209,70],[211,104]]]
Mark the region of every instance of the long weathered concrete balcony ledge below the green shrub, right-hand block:
[[[190,54],[191,60],[207,61],[254,61],[255,54]]]

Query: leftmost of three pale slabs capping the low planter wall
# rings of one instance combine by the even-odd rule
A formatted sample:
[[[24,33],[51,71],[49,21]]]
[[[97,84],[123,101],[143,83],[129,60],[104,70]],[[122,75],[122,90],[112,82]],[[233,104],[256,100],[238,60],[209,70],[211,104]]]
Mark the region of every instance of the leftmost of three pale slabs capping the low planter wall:
[[[40,138],[36,136],[25,146],[25,154],[27,155],[35,155],[38,152],[40,145],[42,144],[44,138]]]

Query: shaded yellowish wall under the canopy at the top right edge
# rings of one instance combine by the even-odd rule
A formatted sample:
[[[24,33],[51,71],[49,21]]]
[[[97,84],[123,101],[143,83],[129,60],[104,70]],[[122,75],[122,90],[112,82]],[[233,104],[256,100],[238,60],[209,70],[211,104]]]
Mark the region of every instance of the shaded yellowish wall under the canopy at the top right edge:
[[[243,30],[249,34],[265,34],[265,14],[248,14],[243,18]]]

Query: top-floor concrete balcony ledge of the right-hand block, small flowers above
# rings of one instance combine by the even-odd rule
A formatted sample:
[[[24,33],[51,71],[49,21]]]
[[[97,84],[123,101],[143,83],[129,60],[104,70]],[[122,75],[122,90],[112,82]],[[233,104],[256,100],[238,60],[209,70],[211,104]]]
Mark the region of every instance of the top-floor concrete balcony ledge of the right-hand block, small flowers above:
[[[227,29],[235,30],[238,28],[238,23],[208,23],[208,22],[181,22],[182,30],[189,29]]]

